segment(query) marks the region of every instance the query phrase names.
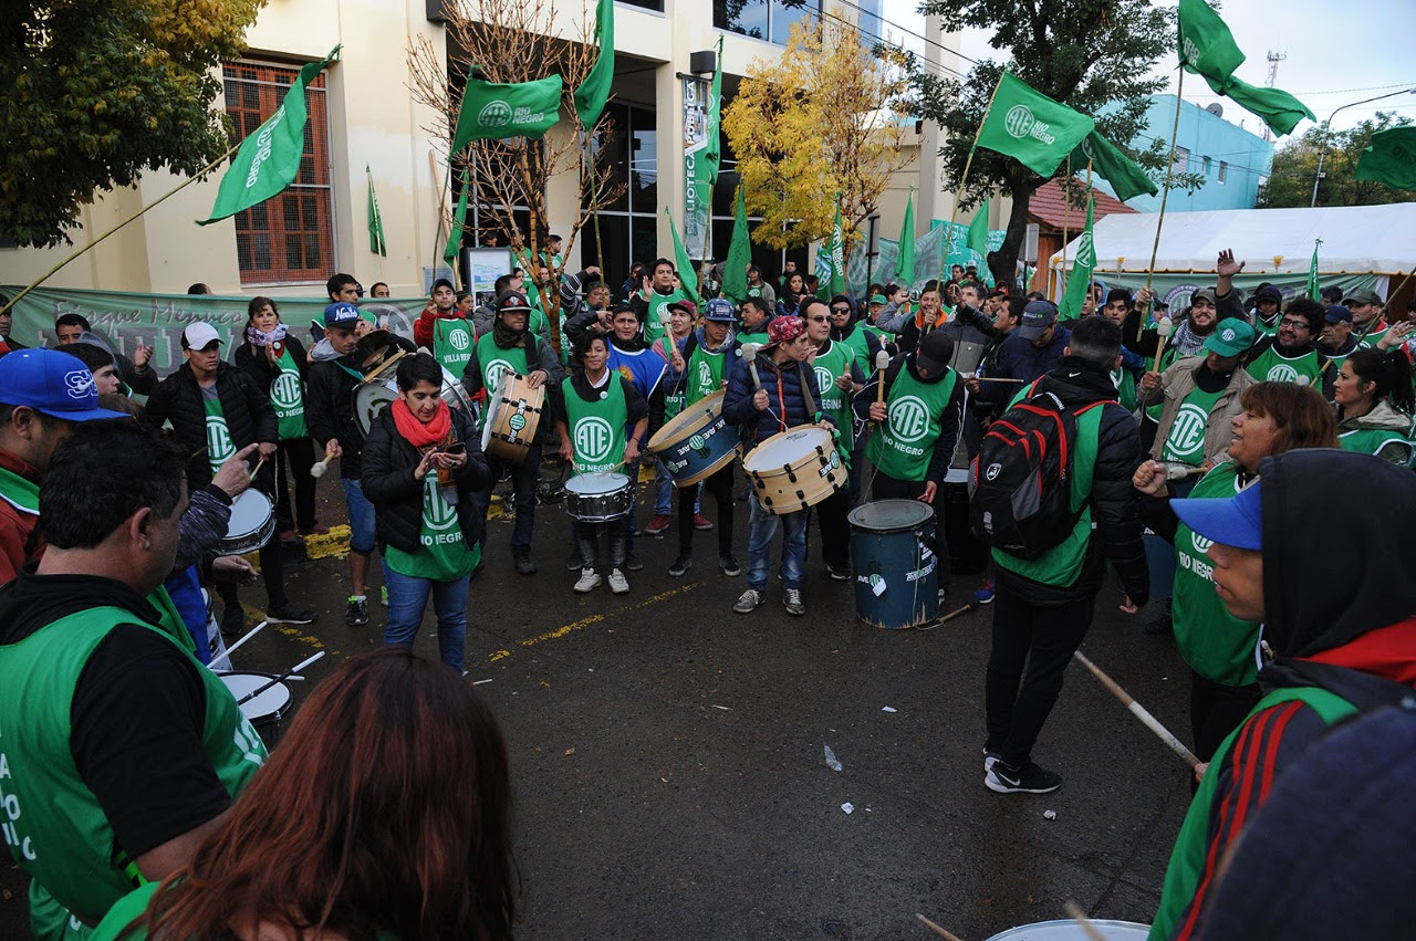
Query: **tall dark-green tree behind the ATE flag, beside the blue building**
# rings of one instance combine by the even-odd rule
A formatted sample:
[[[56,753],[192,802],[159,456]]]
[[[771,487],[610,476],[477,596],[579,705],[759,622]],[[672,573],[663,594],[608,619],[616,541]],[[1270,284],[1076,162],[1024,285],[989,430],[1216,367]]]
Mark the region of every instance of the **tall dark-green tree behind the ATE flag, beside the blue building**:
[[[910,91],[901,110],[939,123],[947,133],[940,149],[943,185],[959,192],[970,208],[993,190],[1012,197],[1007,236],[988,253],[988,269],[1000,280],[1012,280],[1028,226],[1028,198],[1046,180],[1012,157],[991,150],[974,153],[966,188],[960,192],[964,163],[983,122],[998,76],[1008,71],[1037,91],[1096,119],[1096,130],[1134,158],[1157,184],[1164,184],[1170,129],[1147,129],[1150,95],[1165,88],[1165,78],[1151,78],[1160,57],[1175,48],[1174,10],[1150,0],[926,0],[925,14],[937,16],[946,30],[990,30],[990,45],[1001,58],[983,59],[963,78],[937,75],[925,64],[910,62]],[[1157,132],[1161,132],[1157,134]],[[1150,146],[1137,150],[1129,142],[1146,133]],[[1164,134],[1164,136],[1161,136]],[[1072,167],[1085,173],[1086,167]],[[1059,175],[1066,174],[1066,164]],[[1192,174],[1175,174],[1171,188],[1194,188]],[[1076,200],[1085,205],[1085,200]]]

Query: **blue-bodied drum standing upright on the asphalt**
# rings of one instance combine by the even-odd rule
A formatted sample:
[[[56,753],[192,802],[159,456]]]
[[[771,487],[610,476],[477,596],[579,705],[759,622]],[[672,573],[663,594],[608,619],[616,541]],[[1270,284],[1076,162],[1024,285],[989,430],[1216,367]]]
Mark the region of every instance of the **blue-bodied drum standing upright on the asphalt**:
[[[919,627],[939,614],[935,511],[918,500],[861,504],[851,522],[855,616],[874,627]]]

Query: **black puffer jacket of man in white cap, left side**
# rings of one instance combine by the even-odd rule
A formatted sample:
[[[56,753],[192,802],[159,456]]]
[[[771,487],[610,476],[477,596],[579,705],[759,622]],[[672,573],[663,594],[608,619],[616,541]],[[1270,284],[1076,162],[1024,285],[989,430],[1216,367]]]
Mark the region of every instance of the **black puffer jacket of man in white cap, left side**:
[[[239,451],[246,444],[275,444],[278,440],[275,409],[270,399],[242,369],[228,362],[217,364],[217,398],[221,399],[221,415],[227,419],[231,443]],[[211,463],[207,458],[207,409],[201,398],[201,386],[191,371],[191,364],[157,383],[147,398],[143,420],[153,427],[164,422],[173,423],[173,432],[181,446],[194,451],[187,461],[187,490],[197,490],[211,483]],[[273,492],[270,485],[275,461],[266,461],[256,483],[261,490]]]

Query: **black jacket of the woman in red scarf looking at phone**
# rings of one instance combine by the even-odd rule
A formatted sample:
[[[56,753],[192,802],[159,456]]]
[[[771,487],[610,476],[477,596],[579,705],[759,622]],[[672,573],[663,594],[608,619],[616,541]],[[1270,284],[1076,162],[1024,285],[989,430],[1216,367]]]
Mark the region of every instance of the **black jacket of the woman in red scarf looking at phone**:
[[[481,541],[481,514],[472,504],[472,491],[487,485],[487,458],[472,419],[462,409],[452,409],[455,440],[467,447],[467,463],[456,471],[457,524],[469,546]],[[413,477],[422,453],[398,433],[394,409],[387,408],[374,419],[364,443],[364,497],[374,504],[375,531],[379,542],[404,552],[416,552],[423,528],[423,481]],[[436,471],[430,471],[436,473]]]

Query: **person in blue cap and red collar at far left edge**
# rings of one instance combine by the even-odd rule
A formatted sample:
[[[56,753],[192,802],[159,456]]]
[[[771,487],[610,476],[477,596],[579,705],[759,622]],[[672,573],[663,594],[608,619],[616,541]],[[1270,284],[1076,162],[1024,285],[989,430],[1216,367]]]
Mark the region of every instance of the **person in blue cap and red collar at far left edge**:
[[[75,422],[126,419],[98,408],[93,374],[58,350],[0,357],[0,584],[40,556],[28,545],[40,519],[40,481]]]

